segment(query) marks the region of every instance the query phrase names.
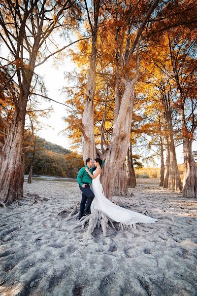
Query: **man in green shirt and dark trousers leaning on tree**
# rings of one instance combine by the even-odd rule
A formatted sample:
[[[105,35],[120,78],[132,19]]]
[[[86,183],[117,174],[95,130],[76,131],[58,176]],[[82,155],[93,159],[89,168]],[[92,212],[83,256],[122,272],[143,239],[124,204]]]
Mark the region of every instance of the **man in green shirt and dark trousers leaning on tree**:
[[[103,166],[105,161],[102,160],[101,167]],[[96,170],[96,167],[93,167],[93,161],[91,158],[86,159],[86,166],[90,173],[93,174],[93,172]],[[85,167],[81,168],[79,170],[79,173],[77,175],[77,182],[79,183],[79,188],[82,191],[82,198],[81,198],[81,204],[80,204],[80,210],[79,210],[79,220],[84,215],[90,215],[90,206],[91,203],[95,197],[95,194],[90,189],[90,185],[92,184],[92,178],[89,176],[88,172],[86,172]]]

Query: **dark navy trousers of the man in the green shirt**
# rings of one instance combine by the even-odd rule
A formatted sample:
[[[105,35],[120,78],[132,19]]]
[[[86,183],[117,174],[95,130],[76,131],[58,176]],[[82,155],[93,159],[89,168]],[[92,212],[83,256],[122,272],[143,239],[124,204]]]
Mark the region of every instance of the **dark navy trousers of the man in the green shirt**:
[[[82,198],[79,210],[79,220],[83,217],[83,214],[90,214],[90,206],[95,197],[95,194],[90,189],[90,185],[85,185],[83,188],[79,185],[80,190],[82,191]]]

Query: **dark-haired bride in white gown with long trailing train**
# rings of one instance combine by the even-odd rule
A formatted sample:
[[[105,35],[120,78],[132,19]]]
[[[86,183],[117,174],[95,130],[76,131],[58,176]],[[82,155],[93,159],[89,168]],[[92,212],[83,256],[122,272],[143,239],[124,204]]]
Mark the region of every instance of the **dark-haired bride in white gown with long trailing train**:
[[[123,222],[127,225],[135,223],[155,223],[157,219],[153,219],[137,212],[122,208],[105,197],[102,185],[100,183],[100,175],[102,173],[102,169],[100,167],[101,163],[102,161],[100,158],[95,158],[94,165],[95,167],[97,167],[97,169],[93,172],[93,175],[88,170],[88,168],[85,167],[85,170],[93,179],[92,191],[95,194],[95,198],[93,199],[93,202],[91,204],[91,213],[93,213],[97,209],[103,212],[113,221]]]

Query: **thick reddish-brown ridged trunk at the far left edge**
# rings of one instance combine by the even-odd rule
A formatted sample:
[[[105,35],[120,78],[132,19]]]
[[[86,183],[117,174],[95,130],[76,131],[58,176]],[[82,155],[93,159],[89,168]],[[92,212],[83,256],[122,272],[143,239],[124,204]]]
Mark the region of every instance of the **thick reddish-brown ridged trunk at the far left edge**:
[[[5,144],[0,155],[0,201],[9,204],[23,197],[25,173],[24,126],[27,99],[15,111]]]

